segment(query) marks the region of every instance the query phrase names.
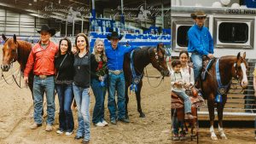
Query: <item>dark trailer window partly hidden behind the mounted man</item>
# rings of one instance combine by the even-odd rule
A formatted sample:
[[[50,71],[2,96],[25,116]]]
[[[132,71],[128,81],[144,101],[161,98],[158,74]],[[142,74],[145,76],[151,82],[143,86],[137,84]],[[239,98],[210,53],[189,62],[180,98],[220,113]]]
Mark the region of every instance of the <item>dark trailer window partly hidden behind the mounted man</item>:
[[[179,26],[177,28],[177,45],[180,47],[188,47],[189,37],[188,31],[191,26]]]

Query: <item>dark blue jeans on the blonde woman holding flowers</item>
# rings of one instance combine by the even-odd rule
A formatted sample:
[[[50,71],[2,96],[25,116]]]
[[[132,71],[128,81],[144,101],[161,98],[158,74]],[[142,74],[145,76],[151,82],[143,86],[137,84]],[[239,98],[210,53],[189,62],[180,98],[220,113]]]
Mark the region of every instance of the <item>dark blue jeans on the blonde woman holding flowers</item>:
[[[92,123],[96,124],[104,120],[104,101],[107,87],[102,87],[100,81],[95,78],[90,79],[90,86],[96,101],[92,114]]]

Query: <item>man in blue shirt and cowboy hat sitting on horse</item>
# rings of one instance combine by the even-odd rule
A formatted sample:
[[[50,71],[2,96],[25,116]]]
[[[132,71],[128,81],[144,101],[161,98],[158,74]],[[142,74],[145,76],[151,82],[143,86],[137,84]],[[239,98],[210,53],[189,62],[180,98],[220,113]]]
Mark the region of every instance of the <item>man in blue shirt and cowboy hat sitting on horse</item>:
[[[195,25],[189,28],[188,52],[192,53],[191,59],[194,64],[195,82],[197,82],[202,69],[202,57],[207,55],[209,59],[213,58],[213,40],[211,33],[204,26],[207,14],[197,11],[191,14],[191,17],[195,20]]]

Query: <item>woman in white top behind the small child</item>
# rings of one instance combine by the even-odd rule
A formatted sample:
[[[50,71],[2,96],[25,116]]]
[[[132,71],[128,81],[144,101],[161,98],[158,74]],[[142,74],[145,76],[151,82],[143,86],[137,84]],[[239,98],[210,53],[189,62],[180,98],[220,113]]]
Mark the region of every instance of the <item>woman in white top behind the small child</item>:
[[[179,53],[179,60],[181,61],[181,70],[180,70],[180,72],[181,72],[181,75],[183,77],[184,88],[189,88],[190,85],[195,84],[193,68],[188,65],[189,53],[186,50],[181,51]],[[182,130],[180,132],[180,135],[178,135],[179,127],[181,127],[181,130]],[[173,131],[173,134],[174,134],[172,136],[172,139],[174,141],[185,139],[185,132],[183,130],[183,122],[178,122],[177,121],[176,113],[174,113],[174,115],[172,117],[172,131]]]

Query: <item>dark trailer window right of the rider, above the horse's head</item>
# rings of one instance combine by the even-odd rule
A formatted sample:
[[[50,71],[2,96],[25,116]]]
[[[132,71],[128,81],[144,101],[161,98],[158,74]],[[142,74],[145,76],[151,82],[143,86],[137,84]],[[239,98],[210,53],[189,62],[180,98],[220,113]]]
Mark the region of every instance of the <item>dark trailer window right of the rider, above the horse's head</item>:
[[[248,26],[246,23],[222,22],[218,27],[221,43],[247,43]]]

